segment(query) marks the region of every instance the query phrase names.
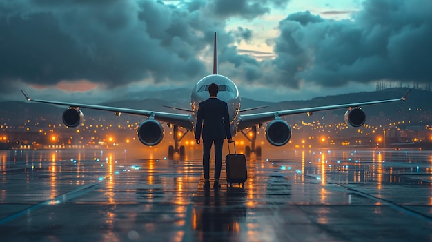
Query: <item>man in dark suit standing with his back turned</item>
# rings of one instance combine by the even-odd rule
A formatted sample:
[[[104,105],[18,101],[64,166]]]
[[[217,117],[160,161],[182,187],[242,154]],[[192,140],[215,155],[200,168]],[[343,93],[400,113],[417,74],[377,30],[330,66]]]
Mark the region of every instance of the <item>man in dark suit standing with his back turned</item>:
[[[201,131],[203,141],[202,165],[204,172],[204,188],[210,187],[210,150],[215,143],[215,183],[214,188],[219,188],[219,178],[222,169],[222,146],[225,137],[228,143],[233,139],[230,132],[230,119],[228,105],[217,98],[219,86],[215,83],[208,87],[210,98],[199,103],[195,139],[200,143]]]

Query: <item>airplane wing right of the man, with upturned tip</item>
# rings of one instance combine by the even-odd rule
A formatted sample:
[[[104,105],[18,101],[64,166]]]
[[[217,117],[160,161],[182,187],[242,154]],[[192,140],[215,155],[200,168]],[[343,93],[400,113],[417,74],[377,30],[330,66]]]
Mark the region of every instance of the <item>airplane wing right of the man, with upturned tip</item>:
[[[293,114],[302,114],[302,113],[312,113],[317,111],[325,111],[325,110],[335,110],[340,108],[356,108],[365,105],[374,105],[379,103],[391,103],[395,101],[404,101],[406,99],[406,95],[411,91],[408,90],[405,92],[404,96],[399,99],[386,99],[380,101],[367,101],[363,103],[346,103],[346,104],[337,104],[337,105],[327,105],[320,107],[312,107],[312,108],[298,108],[293,110],[282,110],[282,111],[274,111],[274,112],[262,112],[257,114],[242,114],[239,115],[239,124],[237,126],[238,130],[243,130],[244,128],[251,127],[256,125],[257,123],[265,123],[268,121],[272,121],[277,119],[277,117],[293,115]]]

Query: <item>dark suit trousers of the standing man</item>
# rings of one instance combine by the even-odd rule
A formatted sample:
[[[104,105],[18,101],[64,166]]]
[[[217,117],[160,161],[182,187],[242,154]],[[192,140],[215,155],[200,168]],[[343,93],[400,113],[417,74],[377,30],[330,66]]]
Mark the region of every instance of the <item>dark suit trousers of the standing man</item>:
[[[215,143],[215,179],[219,180],[222,169],[222,147],[224,139],[203,139],[202,167],[204,179],[210,179],[210,151]]]

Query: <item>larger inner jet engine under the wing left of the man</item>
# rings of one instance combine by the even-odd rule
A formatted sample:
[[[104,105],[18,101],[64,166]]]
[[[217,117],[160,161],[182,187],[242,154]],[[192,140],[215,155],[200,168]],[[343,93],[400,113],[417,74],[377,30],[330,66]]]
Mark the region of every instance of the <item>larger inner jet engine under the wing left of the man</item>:
[[[158,121],[148,119],[139,125],[138,138],[144,145],[157,145],[164,139],[164,128]]]

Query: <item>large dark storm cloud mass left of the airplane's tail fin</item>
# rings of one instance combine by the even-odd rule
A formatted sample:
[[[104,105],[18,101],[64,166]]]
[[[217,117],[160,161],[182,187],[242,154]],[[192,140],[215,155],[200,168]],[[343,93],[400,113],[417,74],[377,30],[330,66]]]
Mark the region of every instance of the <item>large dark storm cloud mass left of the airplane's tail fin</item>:
[[[210,34],[193,32],[215,31],[211,21],[197,26],[192,23],[199,22],[197,12],[156,1],[103,3],[2,1],[1,84],[88,79],[114,86],[146,77],[185,81],[204,74],[197,52],[210,42]]]

